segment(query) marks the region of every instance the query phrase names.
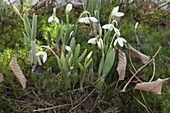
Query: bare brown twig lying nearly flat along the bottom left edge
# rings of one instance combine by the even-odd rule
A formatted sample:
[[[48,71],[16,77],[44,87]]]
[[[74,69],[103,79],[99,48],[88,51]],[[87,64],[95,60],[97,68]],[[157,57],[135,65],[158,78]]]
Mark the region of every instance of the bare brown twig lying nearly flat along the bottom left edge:
[[[57,105],[57,106],[53,106],[53,107],[48,107],[48,108],[38,108],[36,110],[33,110],[33,112],[37,112],[37,111],[47,111],[47,110],[51,110],[51,109],[56,109],[56,108],[61,108],[61,107],[66,107],[66,106],[71,106],[71,104],[63,104],[63,105]]]

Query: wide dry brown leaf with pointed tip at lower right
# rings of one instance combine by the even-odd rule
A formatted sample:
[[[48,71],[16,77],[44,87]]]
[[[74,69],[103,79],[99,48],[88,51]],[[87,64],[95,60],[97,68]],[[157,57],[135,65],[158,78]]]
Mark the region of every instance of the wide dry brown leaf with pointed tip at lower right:
[[[159,78],[153,82],[138,83],[138,84],[136,84],[135,89],[152,92],[155,94],[161,94],[162,84],[163,84],[163,82],[165,82],[168,79],[169,78],[165,78],[165,79]]]

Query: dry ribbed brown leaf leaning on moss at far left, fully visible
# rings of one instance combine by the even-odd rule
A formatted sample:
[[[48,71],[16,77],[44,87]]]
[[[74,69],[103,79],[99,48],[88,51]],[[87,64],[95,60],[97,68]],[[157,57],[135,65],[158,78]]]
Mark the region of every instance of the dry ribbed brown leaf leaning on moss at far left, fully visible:
[[[15,74],[15,77],[18,79],[18,81],[22,85],[22,88],[25,89],[27,79],[25,78],[21,68],[19,67],[17,63],[17,59],[15,57],[12,58],[11,62],[9,63],[9,66],[12,69],[13,73]]]

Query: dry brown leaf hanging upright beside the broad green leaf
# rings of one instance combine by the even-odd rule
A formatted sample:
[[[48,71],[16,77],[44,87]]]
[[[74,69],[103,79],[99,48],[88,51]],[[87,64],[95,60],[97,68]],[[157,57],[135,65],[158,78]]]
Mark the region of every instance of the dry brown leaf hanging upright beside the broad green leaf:
[[[119,57],[119,62],[116,70],[118,71],[119,74],[119,80],[124,80],[125,72],[126,72],[126,64],[127,64],[126,54],[119,49],[118,57]]]

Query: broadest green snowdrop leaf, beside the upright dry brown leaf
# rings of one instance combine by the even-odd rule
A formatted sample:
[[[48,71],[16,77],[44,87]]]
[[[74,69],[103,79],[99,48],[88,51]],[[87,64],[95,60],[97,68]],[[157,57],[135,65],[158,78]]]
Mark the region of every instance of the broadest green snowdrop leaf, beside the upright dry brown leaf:
[[[113,48],[106,56],[106,60],[103,66],[102,76],[106,76],[109,73],[109,71],[113,66],[114,60],[115,60],[115,50]]]

